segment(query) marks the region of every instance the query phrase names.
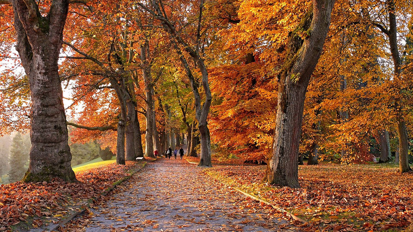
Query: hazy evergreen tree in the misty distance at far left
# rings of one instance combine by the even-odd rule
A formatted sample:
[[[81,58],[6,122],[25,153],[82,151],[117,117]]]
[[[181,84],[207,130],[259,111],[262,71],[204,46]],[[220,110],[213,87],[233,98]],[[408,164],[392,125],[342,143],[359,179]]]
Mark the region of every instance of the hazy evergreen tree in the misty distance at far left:
[[[12,147],[10,149],[10,182],[19,181],[24,177],[24,173],[26,173],[28,168],[27,161],[29,148],[28,142],[20,133],[17,133],[13,138]]]

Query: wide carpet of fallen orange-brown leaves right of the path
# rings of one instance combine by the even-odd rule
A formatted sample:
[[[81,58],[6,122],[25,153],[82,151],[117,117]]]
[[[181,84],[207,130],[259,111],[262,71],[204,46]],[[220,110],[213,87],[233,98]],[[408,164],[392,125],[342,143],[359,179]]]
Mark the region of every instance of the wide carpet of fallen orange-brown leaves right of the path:
[[[263,184],[263,166],[219,166],[208,172],[308,220],[314,230],[389,230],[413,221],[413,175],[396,168],[300,166],[300,189]]]

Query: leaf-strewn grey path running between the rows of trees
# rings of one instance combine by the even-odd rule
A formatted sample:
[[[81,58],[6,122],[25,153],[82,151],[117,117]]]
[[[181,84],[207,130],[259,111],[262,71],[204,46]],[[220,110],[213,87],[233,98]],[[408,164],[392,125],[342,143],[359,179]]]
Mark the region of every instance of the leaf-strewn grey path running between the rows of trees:
[[[297,231],[200,170],[179,156],[148,163],[125,191],[93,211],[83,230]]]

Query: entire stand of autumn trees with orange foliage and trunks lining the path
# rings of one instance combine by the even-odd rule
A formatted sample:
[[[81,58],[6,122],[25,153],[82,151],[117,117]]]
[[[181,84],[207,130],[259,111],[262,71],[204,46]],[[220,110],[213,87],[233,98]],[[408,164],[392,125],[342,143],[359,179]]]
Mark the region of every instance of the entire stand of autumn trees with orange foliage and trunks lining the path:
[[[397,150],[400,171],[411,170],[408,0],[29,2],[0,1],[2,57],[26,73],[5,70],[0,126],[31,128],[25,181],[75,180],[66,125],[119,164],[185,133],[188,155],[200,143],[199,166],[210,167],[212,140],[266,161],[265,181],[290,187],[300,154],[354,162],[372,139],[381,161]],[[68,108],[81,107],[76,123],[62,83]]]

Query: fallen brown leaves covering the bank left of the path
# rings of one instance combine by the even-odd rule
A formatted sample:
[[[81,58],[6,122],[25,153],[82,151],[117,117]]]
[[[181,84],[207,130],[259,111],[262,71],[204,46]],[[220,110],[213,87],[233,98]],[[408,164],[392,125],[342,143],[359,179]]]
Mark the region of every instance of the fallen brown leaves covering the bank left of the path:
[[[10,230],[9,226],[30,217],[45,216],[48,220],[59,220],[68,212],[67,207],[75,207],[84,200],[99,196],[114,182],[130,175],[128,171],[136,165],[129,161],[125,166],[110,164],[76,173],[77,183],[68,184],[55,179],[50,183],[0,185],[0,231]],[[38,227],[42,223],[35,220],[32,226]]]

